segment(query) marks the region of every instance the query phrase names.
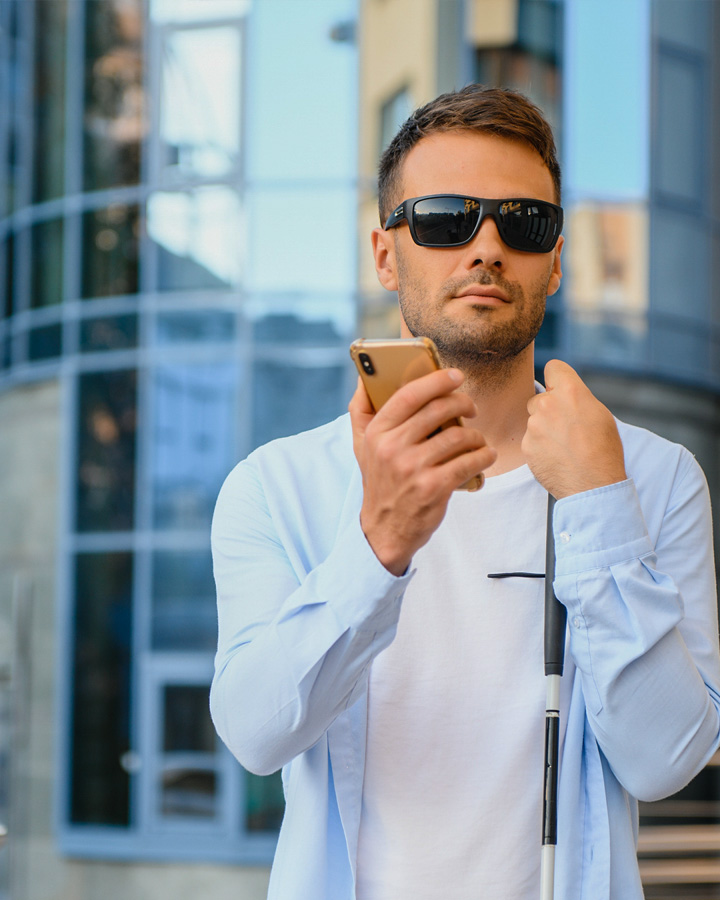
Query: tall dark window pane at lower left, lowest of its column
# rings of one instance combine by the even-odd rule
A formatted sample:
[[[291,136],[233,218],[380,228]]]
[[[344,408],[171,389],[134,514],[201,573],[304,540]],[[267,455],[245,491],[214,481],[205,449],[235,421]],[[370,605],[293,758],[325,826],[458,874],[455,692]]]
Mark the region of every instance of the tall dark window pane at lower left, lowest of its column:
[[[77,557],[71,819],[127,825],[132,556]]]

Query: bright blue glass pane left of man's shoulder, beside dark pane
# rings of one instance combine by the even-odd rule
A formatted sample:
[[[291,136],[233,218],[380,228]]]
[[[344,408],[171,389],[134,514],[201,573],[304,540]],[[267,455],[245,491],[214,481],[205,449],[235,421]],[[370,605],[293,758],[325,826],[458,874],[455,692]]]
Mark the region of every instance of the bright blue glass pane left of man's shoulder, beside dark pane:
[[[162,366],[153,377],[156,527],[204,528],[232,467],[236,370],[231,363]]]

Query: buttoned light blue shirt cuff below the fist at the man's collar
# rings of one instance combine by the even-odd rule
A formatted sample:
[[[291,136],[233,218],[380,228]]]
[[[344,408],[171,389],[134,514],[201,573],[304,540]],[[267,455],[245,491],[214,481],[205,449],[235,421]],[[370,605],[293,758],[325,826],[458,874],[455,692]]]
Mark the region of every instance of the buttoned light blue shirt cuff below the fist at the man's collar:
[[[558,500],[553,532],[556,577],[605,568],[653,552],[631,478]]]

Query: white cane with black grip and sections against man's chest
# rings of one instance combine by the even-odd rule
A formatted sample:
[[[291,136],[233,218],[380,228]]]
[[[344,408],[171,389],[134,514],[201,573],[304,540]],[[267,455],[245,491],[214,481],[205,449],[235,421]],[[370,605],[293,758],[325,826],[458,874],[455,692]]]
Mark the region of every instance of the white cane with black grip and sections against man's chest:
[[[545,778],[543,790],[543,838],[540,860],[541,900],[555,895],[555,847],[557,846],[557,791],[560,751],[560,679],[565,660],[567,610],[555,596],[555,498],[548,495],[545,546]]]

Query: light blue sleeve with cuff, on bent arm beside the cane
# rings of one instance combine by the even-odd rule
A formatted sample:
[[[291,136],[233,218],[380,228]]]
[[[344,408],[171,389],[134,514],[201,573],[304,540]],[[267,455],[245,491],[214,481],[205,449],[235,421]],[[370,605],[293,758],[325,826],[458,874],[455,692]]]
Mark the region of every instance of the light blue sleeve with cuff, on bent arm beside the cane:
[[[720,741],[710,502],[683,451],[653,540],[632,480],[558,501],[555,590],[588,718],[640,800],[694,777]]]

